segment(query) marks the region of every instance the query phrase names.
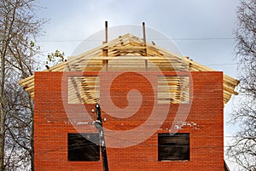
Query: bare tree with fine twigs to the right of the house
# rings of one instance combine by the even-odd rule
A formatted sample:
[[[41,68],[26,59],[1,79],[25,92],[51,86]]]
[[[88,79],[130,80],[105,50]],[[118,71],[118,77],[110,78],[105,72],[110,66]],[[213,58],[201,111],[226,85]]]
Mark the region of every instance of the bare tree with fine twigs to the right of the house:
[[[256,1],[243,0],[237,9],[236,60],[240,71],[240,99],[233,122],[240,125],[228,155],[241,170],[256,170]]]

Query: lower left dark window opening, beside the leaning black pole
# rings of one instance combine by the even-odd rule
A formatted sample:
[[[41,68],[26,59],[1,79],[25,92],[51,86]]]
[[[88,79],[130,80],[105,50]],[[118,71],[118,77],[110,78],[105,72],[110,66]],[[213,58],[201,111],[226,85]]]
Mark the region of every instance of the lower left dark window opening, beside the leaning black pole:
[[[68,161],[100,161],[99,134],[68,133]]]

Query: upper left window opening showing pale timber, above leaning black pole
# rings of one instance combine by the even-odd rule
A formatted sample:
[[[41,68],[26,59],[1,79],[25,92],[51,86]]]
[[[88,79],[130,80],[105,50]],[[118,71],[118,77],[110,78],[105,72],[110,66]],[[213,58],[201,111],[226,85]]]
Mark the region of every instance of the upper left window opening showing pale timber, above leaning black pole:
[[[68,77],[68,104],[96,104],[100,98],[99,77]]]

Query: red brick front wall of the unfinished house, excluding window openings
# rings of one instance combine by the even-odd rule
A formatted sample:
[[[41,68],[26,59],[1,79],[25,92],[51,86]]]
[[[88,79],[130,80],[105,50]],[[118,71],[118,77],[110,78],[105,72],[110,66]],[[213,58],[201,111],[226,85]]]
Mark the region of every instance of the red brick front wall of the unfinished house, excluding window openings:
[[[104,88],[108,83],[108,78],[113,72],[102,75],[101,87]],[[147,74],[147,73],[142,73]],[[154,72],[148,72],[152,77],[152,81],[156,81]],[[174,76],[175,72],[165,72],[165,75]],[[108,165],[110,171],[139,171],[139,170],[224,170],[224,117],[223,117],[223,73],[222,72],[186,72],[178,73],[186,76],[190,75],[190,103],[189,104],[173,104],[168,105],[169,112],[166,121],[161,123],[160,128],[148,140],[125,148],[110,148],[113,142],[117,145],[122,144],[122,137],[111,137],[112,134],[106,132],[106,144],[108,151]],[[80,73],[71,73],[76,76]],[[84,72],[84,75],[96,76],[97,72]],[[62,82],[62,80],[64,81]],[[86,121],[84,119],[84,106],[91,113],[91,109],[95,105],[71,105],[67,104],[67,77],[62,77],[62,72],[36,72],[35,73],[35,170],[88,170],[99,171],[102,169],[102,158],[100,162],[68,162],[67,161],[67,133],[81,132],[97,132],[92,125],[80,125],[73,127],[78,121]],[[131,80],[133,80],[131,82]],[[125,107],[127,104],[126,94],[128,89],[139,88],[143,92],[143,106],[139,111],[131,117],[124,119],[116,119],[102,111],[102,117],[107,118],[107,122],[103,123],[104,128],[111,131],[118,130],[119,133],[125,130],[138,128],[150,116],[153,110],[155,93],[147,93],[147,89],[152,91],[156,88],[156,84],[148,86],[147,80],[138,79],[135,74],[119,78],[120,83],[113,83],[111,88],[113,102],[119,107]],[[121,83],[125,82],[126,83]],[[134,87],[133,87],[134,86]],[[120,90],[121,89],[121,90]],[[61,93],[61,91],[63,91]],[[104,89],[101,89],[104,92]],[[106,94],[105,94],[106,95]],[[146,97],[146,98],[145,98]],[[101,100],[108,98],[101,94]],[[108,105],[105,104],[105,105]],[[172,125],[175,117],[183,120],[186,110],[181,111],[176,116],[178,107],[182,106],[182,110],[189,108],[189,116],[183,123],[196,123],[195,126],[184,125],[179,129],[179,133],[190,134],[190,160],[181,162],[158,162],[157,134],[167,133],[168,128]],[[160,105],[165,108],[166,105]],[[67,117],[68,110],[73,111],[73,116]],[[165,111],[165,109],[163,109]],[[88,117],[88,116],[87,116]],[[93,117],[93,115],[91,115]],[[157,122],[158,118],[154,117]],[[72,124],[73,123],[73,124]],[[139,134],[129,137],[129,140],[136,141],[137,137],[142,134],[150,134],[150,124],[143,128]],[[177,131],[177,130],[172,130]],[[150,131],[149,131],[150,132]],[[123,134],[125,136],[125,134]]]

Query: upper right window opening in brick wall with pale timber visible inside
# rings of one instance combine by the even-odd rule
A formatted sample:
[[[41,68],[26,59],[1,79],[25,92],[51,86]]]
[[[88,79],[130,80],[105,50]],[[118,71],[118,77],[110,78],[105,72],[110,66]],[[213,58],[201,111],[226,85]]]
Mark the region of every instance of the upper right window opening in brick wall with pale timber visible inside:
[[[159,76],[157,77],[158,104],[188,104],[188,76]]]

